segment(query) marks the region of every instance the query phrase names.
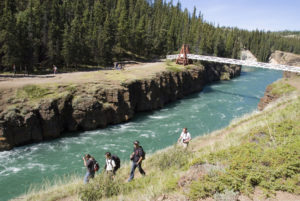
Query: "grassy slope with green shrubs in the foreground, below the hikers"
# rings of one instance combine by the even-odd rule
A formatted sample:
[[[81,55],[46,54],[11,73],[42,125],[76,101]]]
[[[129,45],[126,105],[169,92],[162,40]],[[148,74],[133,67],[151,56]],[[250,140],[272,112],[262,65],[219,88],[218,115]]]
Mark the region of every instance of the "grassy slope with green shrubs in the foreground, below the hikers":
[[[75,179],[23,200],[298,200],[299,121],[296,91],[194,139],[188,152],[169,147],[147,156],[147,176],[131,183],[124,165],[113,182],[100,174],[90,185]]]

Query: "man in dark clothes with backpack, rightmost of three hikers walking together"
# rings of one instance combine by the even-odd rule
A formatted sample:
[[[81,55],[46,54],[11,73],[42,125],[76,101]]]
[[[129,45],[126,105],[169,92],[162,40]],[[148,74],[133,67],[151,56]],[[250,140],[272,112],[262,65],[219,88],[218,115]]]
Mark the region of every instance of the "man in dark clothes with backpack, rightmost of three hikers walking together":
[[[130,155],[130,160],[132,160],[132,166],[128,182],[130,182],[134,178],[134,171],[136,167],[139,168],[139,171],[143,176],[146,175],[145,171],[142,169],[142,161],[145,159],[145,152],[143,150],[143,147],[140,146],[140,142],[137,140],[134,141],[133,145],[133,153]]]

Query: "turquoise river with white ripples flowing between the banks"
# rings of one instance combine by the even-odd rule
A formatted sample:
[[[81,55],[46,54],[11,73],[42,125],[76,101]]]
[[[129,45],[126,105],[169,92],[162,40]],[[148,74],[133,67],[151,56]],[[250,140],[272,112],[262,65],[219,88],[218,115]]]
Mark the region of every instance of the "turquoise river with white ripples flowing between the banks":
[[[136,139],[149,154],[174,144],[183,127],[192,137],[223,128],[256,110],[266,86],[281,76],[280,71],[243,67],[240,77],[208,85],[161,110],[138,114],[128,123],[0,152],[0,200],[63,175],[83,177],[85,153],[95,156],[102,168],[107,151],[128,160]]]

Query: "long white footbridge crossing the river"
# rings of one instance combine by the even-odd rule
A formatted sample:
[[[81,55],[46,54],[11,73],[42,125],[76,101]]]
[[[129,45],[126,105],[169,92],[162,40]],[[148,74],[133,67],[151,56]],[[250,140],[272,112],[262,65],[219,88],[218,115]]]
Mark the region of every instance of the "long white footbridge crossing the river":
[[[185,57],[184,54],[167,55],[168,60],[176,60],[178,58],[183,58],[183,57]],[[256,68],[266,68],[272,70],[281,70],[281,71],[300,73],[300,67],[297,66],[270,64],[270,63],[263,63],[263,62],[249,61],[249,60],[239,60],[239,59],[195,55],[195,54],[186,54],[186,57],[187,59],[191,59],[191,60],[212,61],[217,63],[236,64],[236,65],[243,65],[243,66],[256,67]]]

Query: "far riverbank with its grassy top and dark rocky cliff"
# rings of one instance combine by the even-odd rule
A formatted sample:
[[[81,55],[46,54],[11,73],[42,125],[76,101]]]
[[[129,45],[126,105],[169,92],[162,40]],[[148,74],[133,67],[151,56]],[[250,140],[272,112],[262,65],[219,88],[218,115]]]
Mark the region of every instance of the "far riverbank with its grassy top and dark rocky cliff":
[[[4,80],[0,150],[125,122],[240,71],[239,66],[207,62],[187,67],[158,62],[121,71]]]

